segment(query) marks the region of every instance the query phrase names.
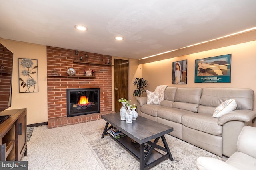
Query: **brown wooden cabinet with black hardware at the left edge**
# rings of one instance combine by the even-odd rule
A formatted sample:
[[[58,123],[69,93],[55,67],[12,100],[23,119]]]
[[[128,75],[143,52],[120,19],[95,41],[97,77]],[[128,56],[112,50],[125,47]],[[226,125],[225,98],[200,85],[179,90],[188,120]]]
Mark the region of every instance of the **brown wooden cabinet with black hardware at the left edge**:
[[[0,124],[0,159],[19,161],[27,154],[27,111],[5,110],[0,113],[2,115],[10,117]]]

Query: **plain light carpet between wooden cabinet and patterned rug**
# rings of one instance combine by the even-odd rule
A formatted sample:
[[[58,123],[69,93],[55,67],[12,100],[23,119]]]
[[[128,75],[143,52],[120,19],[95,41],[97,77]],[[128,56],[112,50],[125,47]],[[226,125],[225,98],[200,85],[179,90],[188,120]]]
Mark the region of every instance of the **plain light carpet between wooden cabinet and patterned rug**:
[[[105,124],[99,120],[53,129],[47,125],[34,127],[27,156],[22,160],[28,161],[28,170],[104,170],[81,132],[93,132]]]

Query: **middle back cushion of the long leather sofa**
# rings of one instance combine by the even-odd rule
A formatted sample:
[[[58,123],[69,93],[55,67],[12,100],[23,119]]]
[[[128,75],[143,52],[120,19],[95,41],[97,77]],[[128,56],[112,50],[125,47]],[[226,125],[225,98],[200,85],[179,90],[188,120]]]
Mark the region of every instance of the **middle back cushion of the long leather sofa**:
[[[172,107],[197,112],[201,93],[202,88],[178,88]]]

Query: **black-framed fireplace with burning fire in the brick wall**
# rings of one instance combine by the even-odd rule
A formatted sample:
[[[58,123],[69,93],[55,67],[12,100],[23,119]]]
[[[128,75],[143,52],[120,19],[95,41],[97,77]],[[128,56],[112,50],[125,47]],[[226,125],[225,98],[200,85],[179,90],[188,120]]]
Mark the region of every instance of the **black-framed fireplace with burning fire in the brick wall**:
[[[100,88],[67,89],[67,117],[100,113]]]

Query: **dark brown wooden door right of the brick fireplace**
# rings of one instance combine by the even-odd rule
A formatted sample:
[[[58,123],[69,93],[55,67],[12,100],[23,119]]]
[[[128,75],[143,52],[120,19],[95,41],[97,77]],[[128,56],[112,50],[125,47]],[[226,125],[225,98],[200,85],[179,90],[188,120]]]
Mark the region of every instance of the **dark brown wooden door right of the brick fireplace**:
[[[119,112],[122,103],[119,98],[128,99],[128,60],[114,60],[115,112]]]

